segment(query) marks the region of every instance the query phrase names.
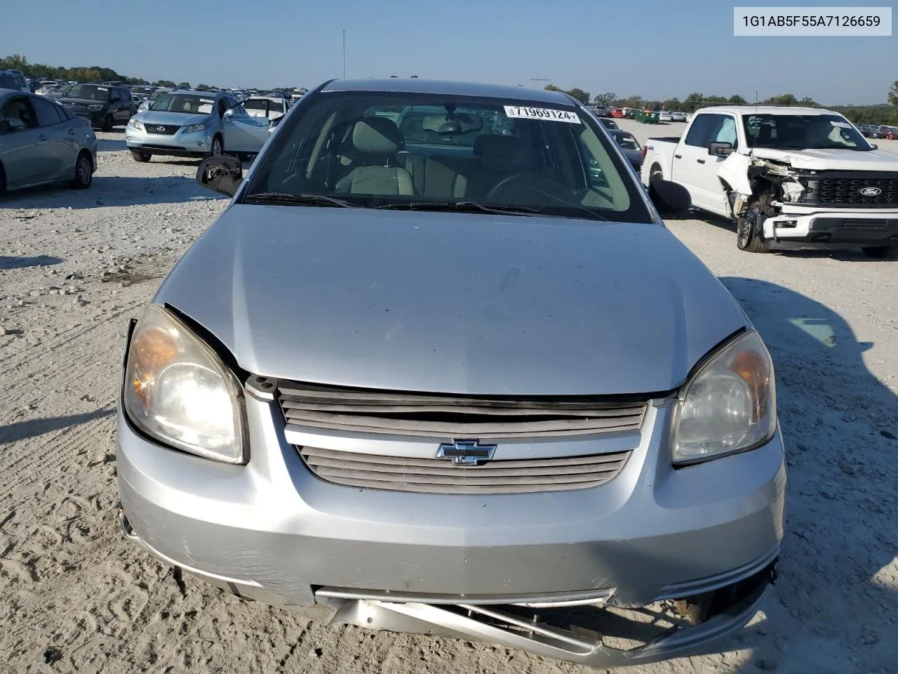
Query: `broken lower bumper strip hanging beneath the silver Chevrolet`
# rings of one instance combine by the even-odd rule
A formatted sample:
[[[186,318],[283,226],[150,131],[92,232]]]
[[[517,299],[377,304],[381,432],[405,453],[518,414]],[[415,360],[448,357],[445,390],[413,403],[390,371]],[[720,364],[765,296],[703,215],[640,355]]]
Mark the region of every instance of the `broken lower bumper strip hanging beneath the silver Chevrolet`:
[[[280,603],[257,583],[180,566],[138,537],[124,513],[119,520],[126,537],[176,572],[197,575],[245,599]],[[321,587],[310,588],[313,604],[282,607],[325,625],[496,643],[545,658],[610,669],[709,652],[709,646],[735,634],[757,614],[775,581],[778,556],[779,546],[731,572],[670,586],[667,595],[641,609],[637,619],[636,612],[614,606],[613,588],[500,599]],[[677,599],[704,601],[711,609],[702,622],[691,625],[672,610],[670,605]],[[571,625],[572,620],[577,620],[576,626],[561,626]]]

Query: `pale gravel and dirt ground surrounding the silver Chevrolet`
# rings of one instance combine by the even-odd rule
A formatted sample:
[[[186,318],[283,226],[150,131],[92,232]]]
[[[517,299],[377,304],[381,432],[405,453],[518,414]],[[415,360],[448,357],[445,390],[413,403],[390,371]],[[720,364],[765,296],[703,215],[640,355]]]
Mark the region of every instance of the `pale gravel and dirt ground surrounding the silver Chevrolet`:
[[[644,140],[683,125],[621,126]],[[123,539],[113,409],[128,318],[226,201],[193,182],[196,162],[137,164],[120,131],[100,137],[92,189],[0,198],[0,670],[588,671],[489,644],[316,625],[187,576],[182,591]],[[753,255],[718,219],[669,226],[773,353],[788,533],[779,583],[744,634],[629,671],[898,672],[898,262]]]

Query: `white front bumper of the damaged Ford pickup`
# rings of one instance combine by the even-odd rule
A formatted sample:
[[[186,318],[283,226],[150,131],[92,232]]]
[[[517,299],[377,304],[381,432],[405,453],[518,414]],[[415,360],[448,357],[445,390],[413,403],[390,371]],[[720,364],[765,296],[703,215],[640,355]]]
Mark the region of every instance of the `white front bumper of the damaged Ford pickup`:
[[[894,209],[814,210],[783,205],[764,220],[764,238],[819,244],[898,245]]]

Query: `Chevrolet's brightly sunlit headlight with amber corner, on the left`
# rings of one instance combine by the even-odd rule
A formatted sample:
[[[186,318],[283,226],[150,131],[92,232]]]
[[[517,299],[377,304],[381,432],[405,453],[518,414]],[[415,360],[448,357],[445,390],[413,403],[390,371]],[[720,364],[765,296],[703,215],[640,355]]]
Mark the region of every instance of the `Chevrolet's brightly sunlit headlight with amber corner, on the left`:
[[[242,389],[207,344],[162,306],[137,322],[124,405],[147,435],[201,457],[244,461]]]

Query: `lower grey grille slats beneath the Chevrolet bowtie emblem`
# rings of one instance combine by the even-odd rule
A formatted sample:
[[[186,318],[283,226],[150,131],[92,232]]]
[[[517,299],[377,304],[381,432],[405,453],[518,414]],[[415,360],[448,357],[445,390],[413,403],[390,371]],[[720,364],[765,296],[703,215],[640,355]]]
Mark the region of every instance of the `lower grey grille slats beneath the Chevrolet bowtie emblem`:
[[[585,457],[493,460],[454,466],[440,458],[383,457],[334,449],[299,448],[322,480],[362,489],[446,494],[566,492],[612,480],[630,451]]]

